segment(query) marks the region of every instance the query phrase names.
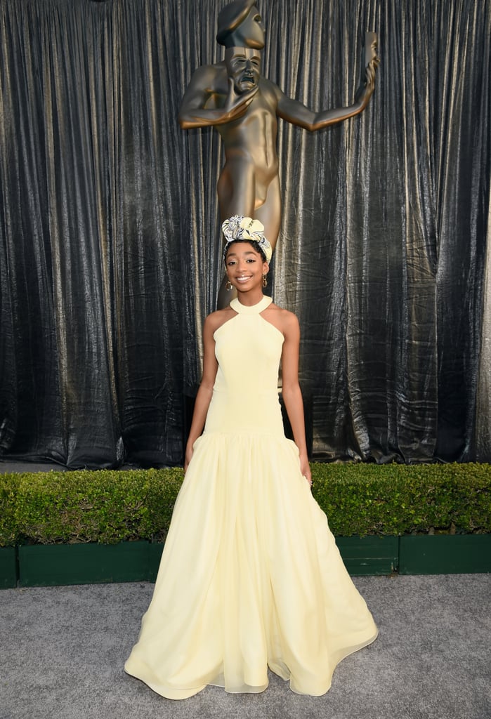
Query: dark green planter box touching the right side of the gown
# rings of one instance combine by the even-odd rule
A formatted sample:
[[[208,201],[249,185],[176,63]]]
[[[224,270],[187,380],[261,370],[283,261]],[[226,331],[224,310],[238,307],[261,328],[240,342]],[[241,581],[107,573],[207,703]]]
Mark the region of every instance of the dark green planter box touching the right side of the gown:
[[[392,574],[398,568],[398,537],[336,537],[336,544],[353,577]]]

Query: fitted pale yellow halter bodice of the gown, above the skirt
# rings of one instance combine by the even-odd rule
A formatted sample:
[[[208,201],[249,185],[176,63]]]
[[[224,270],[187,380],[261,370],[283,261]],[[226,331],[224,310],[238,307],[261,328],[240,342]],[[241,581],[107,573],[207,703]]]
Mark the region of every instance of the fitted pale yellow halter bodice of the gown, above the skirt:
[[[277,377],[285,338],[261,316],[270,303],[266,296],[252,307],[232,300],[237,314],[216,330],[219,368],[205,433],[283,435]]]

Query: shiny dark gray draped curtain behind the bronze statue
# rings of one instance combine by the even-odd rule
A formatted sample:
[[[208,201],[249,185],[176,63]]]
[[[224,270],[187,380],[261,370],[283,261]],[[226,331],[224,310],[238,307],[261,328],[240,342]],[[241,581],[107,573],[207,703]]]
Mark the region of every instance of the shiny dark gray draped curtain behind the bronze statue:
[[[0,453],[181,461],[221,280],[218,134],[183,132],[224,1],[0,4]],[[280,121],[275,301],[298,313],[313,456],[491,460],[488,0],[261,0]]]

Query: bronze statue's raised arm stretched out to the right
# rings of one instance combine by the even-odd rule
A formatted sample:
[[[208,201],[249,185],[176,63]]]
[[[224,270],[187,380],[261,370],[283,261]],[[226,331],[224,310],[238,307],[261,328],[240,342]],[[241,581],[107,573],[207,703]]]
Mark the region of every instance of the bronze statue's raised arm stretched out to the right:
[[[371,45],[367,48],[365,55],[367,58],[368,54],[370,60],[364,69],[364,82],[356,93],[354,104],[348,107],[338,107],[331,110],[313,112],[301,102],[287,97],[277,88],[277,115],[287,122],[291,122],[294,125],[304,127],[313,132],[314,130],[320,130],[324,127],[334,125],[342,120],[347,120],[349,117],[353,117],[362,112],[370,101],[375,89],[375,73],[380,63],[380,59],[377,57],[377,37],[375,33],[367,33],[367,36],[371,36],[372,39]],[[367,40],[368,39],[367,37]]]

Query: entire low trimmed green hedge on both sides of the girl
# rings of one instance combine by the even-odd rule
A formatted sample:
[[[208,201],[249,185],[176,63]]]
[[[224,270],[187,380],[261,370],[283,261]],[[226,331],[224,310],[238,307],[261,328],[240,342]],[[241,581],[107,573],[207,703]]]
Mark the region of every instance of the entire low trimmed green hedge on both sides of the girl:
[[[312,464],[336,536],[491,532],[490,464]],[[168,531],[183,470],[0,475],[0,546],[148,539]]]

